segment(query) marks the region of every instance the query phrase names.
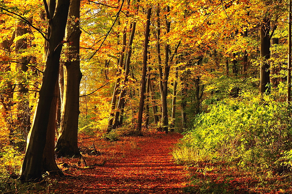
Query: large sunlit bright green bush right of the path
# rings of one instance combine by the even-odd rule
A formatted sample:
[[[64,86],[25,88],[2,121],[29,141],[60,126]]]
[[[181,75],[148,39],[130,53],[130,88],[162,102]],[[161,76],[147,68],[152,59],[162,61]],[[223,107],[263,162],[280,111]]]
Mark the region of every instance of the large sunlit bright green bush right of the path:
[[[244,167],[274,166],[291,150],[291,107],[272,96],[241,97],[209,106],[173,151],[178,161],[232,161]],[[187,158],[187,150],[193,158]]]

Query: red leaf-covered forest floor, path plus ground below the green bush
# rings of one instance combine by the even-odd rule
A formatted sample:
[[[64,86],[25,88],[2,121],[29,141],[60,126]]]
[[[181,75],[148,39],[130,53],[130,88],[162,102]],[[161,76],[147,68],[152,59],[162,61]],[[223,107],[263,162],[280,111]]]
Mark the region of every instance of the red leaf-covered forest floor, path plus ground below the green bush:
[[[46,193],[183,193],[194,176],[194,193],[292,193],[291,175],[270,175],[240,169],[228,162],[179,165],[171,155],[183,136],[155,132],[143,137],[121,137],[104,141],[80,135],[79,146],[96,148],[101,155],[82,159],[58,159],[57,164],[71,177],[52,178]],[[103,166],[86,167],[100,164]],[[68,166],[67,166],[68,165]],[[269,173],[268,173],[269,174]],[[232,177],[228,183],[228,177]]]

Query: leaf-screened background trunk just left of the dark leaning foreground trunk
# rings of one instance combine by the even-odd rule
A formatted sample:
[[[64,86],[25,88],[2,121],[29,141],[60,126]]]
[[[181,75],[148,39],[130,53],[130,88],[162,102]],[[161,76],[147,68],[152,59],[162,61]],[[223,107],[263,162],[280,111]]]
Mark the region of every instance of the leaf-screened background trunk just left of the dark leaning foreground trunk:
[[[22,21],[18,22],[17,28],[15,31],[15,37],[18,38],[20,36],[23,36],[27,34],[27,26]],[[23,49],[27,49],[27,39],[26,38],[20,38],[15,42],[15,54],[20,55],[23,53]],[[26,72],[28,70],[28,66],[25,64],[28,64],[29,59],[27,57],[22,57],[22,59],[17,60],[18,63],[16,63],[16,69],[18,73],[21,75],[22,72]],[[29,107],[29,100],[27,99],[26,95],[28,93],[27,88],[24,86],[24,78],[23,80],[17,80],[16,84],[16,95],[18,96],[18,101],[16,103],[16,107],[18,110],[17,113],[17,125],[20,129],[20,133],[22,134],[22,137],[25,139],[27,138],[27,134],[30,129],[30,107]],[[20,145],[21,147],[25,147],[25,144]]]

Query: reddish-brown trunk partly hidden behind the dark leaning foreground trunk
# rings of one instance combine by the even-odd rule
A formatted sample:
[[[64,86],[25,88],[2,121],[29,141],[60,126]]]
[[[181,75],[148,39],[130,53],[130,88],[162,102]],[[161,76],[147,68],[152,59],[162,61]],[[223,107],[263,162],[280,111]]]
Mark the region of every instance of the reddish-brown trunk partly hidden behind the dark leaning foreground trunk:
[[[56,82],[54,97],[51,104],[51,110],[49,115],[49,122],[47,128],[46,146],[44,148],[43,160],[42,160],[42,172],[50,172],[50,174],[64,175],[60,171],[55,161],[55,131],[57,129],[57,104],[59,95],[59,84]]]

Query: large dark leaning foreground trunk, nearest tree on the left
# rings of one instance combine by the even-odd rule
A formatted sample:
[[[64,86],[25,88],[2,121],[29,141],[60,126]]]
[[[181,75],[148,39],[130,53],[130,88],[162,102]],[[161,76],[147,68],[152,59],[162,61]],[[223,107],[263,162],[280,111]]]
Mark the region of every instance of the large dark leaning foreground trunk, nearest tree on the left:
[[[52,0],[49,4],[51,4]],[[53,1],[55,3],[55,1]],[[54,14],[47,14],[51,32],[48,39],[48,51],[45,59],[45,70],[39,101],[36,106],[34,121],[28,134],[27,149],[20,170],[21,181],[39,181],[42,179],[42,158],[46,144],[46,134],[49,122],[49,113],[54,95],[55,84],[59,75],[59,62],[62,51],[62,41],[65,35],[69,0],[59,0],[53,10]]]

